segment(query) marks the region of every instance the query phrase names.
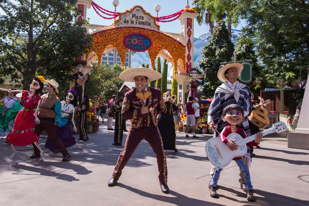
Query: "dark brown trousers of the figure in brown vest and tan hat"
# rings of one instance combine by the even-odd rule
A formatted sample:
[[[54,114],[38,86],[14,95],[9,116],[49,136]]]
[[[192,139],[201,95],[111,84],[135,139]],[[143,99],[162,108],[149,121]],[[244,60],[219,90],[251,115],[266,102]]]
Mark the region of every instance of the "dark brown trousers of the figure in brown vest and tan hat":
[[[40,134],[43,132],[43,130],[46,130],[48,134],[48,138],[50,138],[56,145],[56,147],[59,149],[59,151],[66,155],[68,154],[68,150],[66,150],[65,146],[63,146],[62,142],[58,137],[56,136],[56,130],[55,130],[55,119],[54,118],[45,118],[45,117],[39,117],[40,124],[36,124],[34,127],[34,132],[36,133],[36,136],[40,136]],[[34,154],[39,155],[40,150],[32,143]]]

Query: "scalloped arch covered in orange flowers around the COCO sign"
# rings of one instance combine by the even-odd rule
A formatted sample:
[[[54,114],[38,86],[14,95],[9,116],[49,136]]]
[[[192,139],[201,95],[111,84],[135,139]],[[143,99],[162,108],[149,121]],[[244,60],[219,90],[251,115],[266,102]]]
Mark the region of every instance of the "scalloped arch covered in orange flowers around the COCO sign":
[[[86,53],[86,59],[89,57],[91,52],[95,52],[95,55],[98,57],[99,72],[99,67],[104,50],[108,49],[108,46],[112,45],[117,49],[119,53],[121,66],[123,69],[125,64],[125,54],[127,51],[123,40],[126,36],[131,34],[142,34],[144,36],[147,36],[152,42],[150,47],[147,49],[152,69],[155,68],[155,60],[159,55],[159,52],[163,49],[166,49],[170,53],[175,66],[178,65],[177,62],[179,59],[181,59],[183,63],[183,68],[185,68],[186,50],[183,44],[162,32],[157,32],[154,30],[144,29],[140,27],[116,27],[91,34],[94,42],[92,45],[92,49],[88,50]]]

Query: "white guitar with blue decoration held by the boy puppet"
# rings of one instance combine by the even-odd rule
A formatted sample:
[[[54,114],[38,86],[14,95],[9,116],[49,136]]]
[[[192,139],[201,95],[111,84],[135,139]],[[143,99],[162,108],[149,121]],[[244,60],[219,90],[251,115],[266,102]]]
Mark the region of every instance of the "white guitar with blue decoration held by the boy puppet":
[[[276,122],[273,124],[273,127],[264,130],[262,133],[263,136],[267,134],[271,134],[277,132],[280,134],[281,132],[287,131],[286,124],[283,122]],[[226,137],[227,140],[236,140],[234,143],[239,145],[240,147],[231,151],[221,140],[220,137],[214,137],[209,139],[205,144],[205,151],[208,160],[214,166],[218,168],[223,168],[230,164],[233,158],[242,157],[247,152],[246,143],[254,141],[256,138],[256,134],[251,135],[249,137],[243,138],[241,135],[237,133],[231,133]]]

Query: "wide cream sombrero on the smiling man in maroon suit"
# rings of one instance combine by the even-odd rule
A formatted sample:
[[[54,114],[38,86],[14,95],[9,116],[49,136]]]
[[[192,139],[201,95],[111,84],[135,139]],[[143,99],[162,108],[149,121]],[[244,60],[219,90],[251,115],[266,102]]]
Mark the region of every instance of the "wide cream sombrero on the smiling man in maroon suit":
[[[148,78],[148,82],[151,82],[151,81],[161,78],[162,74],[160,74],[156,70],[140,66],[140,67],[126,69],[119,75],[119,78],[126,82],[135,82],[134,77],[136,76],[145,76]]]

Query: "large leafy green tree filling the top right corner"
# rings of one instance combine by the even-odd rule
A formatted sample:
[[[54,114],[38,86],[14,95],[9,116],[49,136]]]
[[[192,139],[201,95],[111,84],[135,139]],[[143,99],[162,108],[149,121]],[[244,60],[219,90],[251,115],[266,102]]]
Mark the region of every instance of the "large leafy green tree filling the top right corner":
[[[302,69],[302,78],[307,79],[308,1],[241,0],[237,9],[258,37],[256,53],[265,65],[262,73],[265,80],[286,88],[298,80]]]

